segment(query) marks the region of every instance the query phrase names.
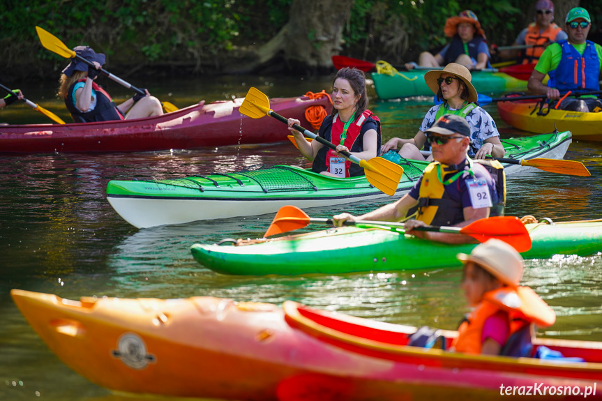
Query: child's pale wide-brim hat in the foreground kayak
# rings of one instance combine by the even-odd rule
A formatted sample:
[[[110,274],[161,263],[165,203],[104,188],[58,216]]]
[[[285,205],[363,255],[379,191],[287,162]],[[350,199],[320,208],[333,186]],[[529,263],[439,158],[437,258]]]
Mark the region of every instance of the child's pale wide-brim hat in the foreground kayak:
[[[466,262],[478,264],[506,285],[511,287],[520,285],[522,271],[525,268],[522,256],[512,245],[504,241],[490,239],[476,245],[470,255],[458,253],[457,257],[464,264]]]

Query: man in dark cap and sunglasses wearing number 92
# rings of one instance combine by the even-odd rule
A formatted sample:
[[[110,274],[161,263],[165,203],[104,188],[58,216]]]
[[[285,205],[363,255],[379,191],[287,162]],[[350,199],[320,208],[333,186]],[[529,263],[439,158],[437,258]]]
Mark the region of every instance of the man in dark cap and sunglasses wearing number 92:
[[[444,243],[474,242],[465,235],[414,231],[425,225],[464,227],[488,218],[492,206],[504,202],[488,170],[467,157],[470,127],[466,119],[445,114],[425,134],[435,161],[426,167],[409,193],[359,217],[349,213],[335,215],[334,224],[343,225],[345,220],[400,221],[411,214],[410,210],[416,210],[416,219],[405,223],[406,234]]]

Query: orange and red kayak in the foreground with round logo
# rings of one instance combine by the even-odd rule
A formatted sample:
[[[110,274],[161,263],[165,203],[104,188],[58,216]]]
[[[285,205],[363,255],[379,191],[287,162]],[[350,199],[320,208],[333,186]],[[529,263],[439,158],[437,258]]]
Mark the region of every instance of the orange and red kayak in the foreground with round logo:
[[[585,363],[407,346],[416,328],[285,302],[81,298],[13,289],[61,360],[115,391],[229,400],[410,400],[500,386],[602,398],[602,343],[537,340]],[[446,338],[456,335],[444,331]],[[547,390],[544,390],[547,389]],[[539,394],[539,393],[535,393]],[[562,398],[561,398],[562,399]]]

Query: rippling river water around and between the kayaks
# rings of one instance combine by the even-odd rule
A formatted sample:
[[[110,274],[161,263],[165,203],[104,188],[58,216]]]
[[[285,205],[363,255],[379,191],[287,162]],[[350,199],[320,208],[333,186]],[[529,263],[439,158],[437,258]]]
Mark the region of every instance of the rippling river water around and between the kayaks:
[[[250,86],[257,86],[270,97],[284,97],[318,92],[330,85],[331,77],[218,77],[156,82],[149,85],[149,90],[162,100],[184,107],[202,99],[210,102],[243,97]],[[21,89],[28,98],[69,121],[63,104],[52,96],[53,82]],[[118,102],[127,94],[116,84],[110,86],[110,91]],[[413,137],[432,101],[380,102],[372,94],[370,108],[383,121],[384,140]],[[502,138],[518,135],[499,119],[495,104],[486,109],[497,121]],[[47,122],[24,105],[0,110],[0,121]],[[600,218],[599,149],[595,143],[573,142],[566,155],[584,162],[592,172],[589,178],[538,170],[510,176],[507,214],[533,214],[552,220]],[[190,255],[190,245],[223,238],[256,238],[273,215],[138,230],[121,220],[105,198],[110,179],[178,178],[261,164],[309,165],[291,144],[284,142],[99,155],[0,154],[0,400],[139,399],[107,391],[63,365],[20,315],[10,300],[11,288],[72,299],[93,295],[218,296],[277,304],[292,299],[392,323],[456,328],[467,311],[459,289],[458,268],[346,275],[220,275],[197,264]],[[328,217],[343,209],[363,213],[383,202],[308,212],[313,217]],[[558,316],[557,324],[540,331],[540,335],[602,340],[600,255],[558,255],[529,260],[526,266],[525,285],[541,294]]]

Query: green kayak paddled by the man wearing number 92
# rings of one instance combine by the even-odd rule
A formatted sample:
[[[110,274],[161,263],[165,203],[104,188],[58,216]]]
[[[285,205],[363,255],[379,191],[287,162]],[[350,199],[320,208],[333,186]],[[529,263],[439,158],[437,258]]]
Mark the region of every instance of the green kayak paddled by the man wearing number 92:
[[[602,251],[602,219],[527,224],[532,248],[527,259],[552,255],[591,255]],[[192,246],[193,256],[218,273],[296,275],[353,273],[460,266],[458,252],[475,244],[449,245],[406,236],[402,230],[340,227],[255,240],[243,245]]]

